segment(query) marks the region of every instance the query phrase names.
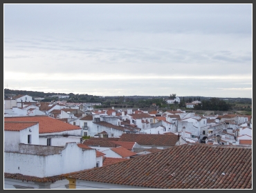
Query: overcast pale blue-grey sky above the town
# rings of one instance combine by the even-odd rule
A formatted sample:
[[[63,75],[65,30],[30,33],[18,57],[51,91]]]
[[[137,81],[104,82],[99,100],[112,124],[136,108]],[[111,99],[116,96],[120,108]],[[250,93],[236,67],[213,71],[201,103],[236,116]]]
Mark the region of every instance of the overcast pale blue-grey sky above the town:
[[[252,98],[252,4],[4,4],[4,88]]]

